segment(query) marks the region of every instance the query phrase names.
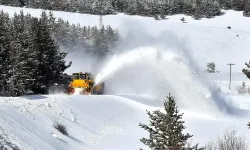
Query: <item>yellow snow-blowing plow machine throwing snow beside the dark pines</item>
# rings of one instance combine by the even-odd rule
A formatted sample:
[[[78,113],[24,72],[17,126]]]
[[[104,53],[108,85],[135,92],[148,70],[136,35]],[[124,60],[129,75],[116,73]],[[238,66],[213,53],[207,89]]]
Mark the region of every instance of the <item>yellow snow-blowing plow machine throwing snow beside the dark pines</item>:
[[[69,95],[102,95],[104,94],[104,82],[95,85],[94,76],[89,73],[73,73],[68,86]]]

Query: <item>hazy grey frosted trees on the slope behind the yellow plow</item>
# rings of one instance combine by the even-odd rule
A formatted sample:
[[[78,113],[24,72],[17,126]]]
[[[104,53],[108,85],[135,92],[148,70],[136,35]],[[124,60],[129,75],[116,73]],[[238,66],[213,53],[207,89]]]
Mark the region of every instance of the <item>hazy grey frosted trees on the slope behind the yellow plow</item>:
[[[101,29],[96,26],[81,27],[60,18],[53,30],[55,40],[64,51],[84,51],[97,57],[105,57],[119,40],[118,31],[110,26],[103,26]]]

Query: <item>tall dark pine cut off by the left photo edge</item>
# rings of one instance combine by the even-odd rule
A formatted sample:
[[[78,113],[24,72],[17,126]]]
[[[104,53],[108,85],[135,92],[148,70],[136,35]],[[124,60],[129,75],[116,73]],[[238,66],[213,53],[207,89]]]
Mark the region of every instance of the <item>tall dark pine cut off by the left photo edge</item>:
[[[8,96],[8,80],[12,37],[10,34],[11,20],[9,15],[0,11],[0,96]]]

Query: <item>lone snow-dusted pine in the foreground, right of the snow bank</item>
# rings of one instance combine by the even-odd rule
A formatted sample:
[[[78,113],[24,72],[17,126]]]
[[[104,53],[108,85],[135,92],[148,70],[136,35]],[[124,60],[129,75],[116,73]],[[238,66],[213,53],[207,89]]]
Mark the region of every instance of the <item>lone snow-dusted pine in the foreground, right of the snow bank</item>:
[[[187,148],[188,139],[193,135],[184,134],[183,113],[179,113],[173,96],[167,96],[168,101],[164,102],[165,113],[160,110],[147,111],[150,118],[149,126],[140,123],[139,126],[149,132],[149,139],[142,138],[140,141],[152,150],[183,150]],[[194,147],[188,147],[188,150],[204,149],[198,148],[198,144]]]

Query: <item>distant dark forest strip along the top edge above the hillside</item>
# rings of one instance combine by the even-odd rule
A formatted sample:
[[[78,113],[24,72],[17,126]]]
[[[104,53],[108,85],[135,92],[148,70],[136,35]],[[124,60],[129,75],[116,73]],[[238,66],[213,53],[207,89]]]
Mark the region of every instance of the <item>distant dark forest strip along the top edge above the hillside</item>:
[[[220,1],[222,1],[223,6],[228,3],[227,1]],[[43,8],[48,10],[98,15],[109,15],[122,12],[130,15],[150,16],[156,18],[157,20],[164,18],[164,15],[179,13],[194,16],[195,14],[197,15],[197,9],[198,12],[202,11],[201,7],[205,8],[205,10],[201,12],[201,16],[215,16],[218,14],[218,11],[220,11],[220,7],[218,7],[219,5],[215,3],[219,4],[218,0],[205,0],[202,1],[200,5],[197,5],[197,1],[189,0],[15,0],[9,2],[6,2],[6,0],[0,0],[0,4],[3,5],[25,5],[31,8]],[[237,3],[235,5],[240,7],[241,4],[242,3]],[[233,2],[230,2],[230,5],[233,5]]]

